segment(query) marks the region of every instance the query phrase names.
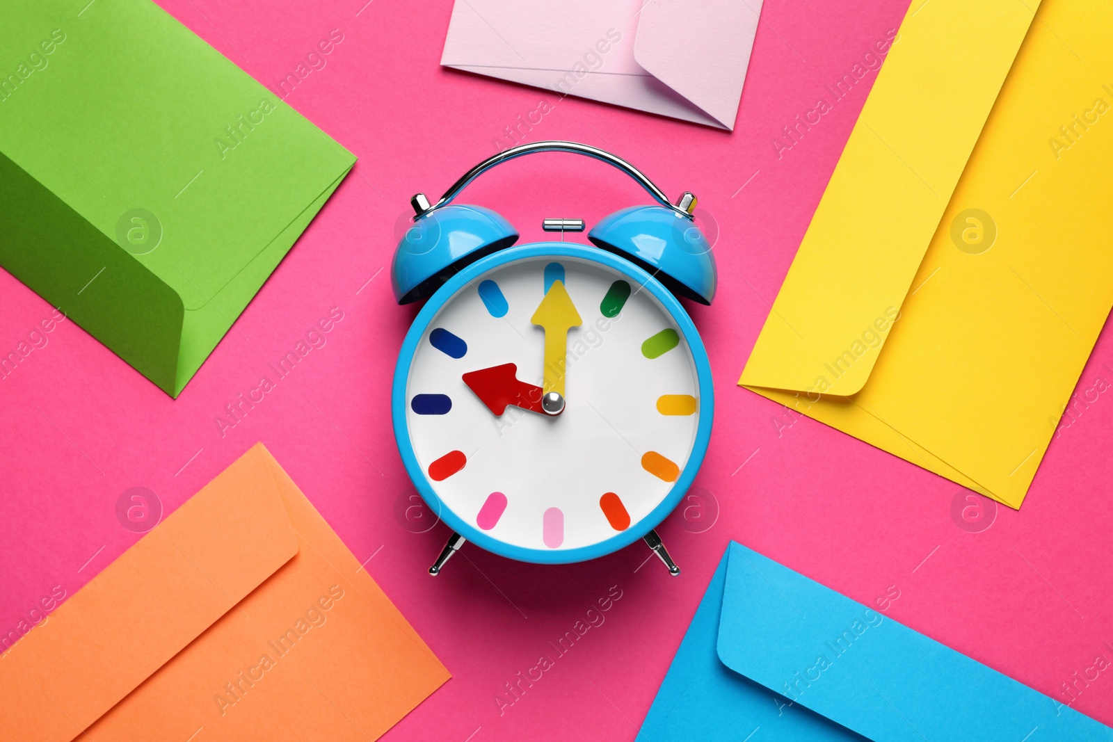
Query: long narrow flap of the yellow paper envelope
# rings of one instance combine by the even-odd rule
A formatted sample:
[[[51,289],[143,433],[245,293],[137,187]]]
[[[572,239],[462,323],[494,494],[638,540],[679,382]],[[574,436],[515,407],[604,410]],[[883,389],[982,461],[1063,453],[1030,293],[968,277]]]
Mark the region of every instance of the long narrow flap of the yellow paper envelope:
[[[1037,6],[913,2],[740,384],[861,389]]]

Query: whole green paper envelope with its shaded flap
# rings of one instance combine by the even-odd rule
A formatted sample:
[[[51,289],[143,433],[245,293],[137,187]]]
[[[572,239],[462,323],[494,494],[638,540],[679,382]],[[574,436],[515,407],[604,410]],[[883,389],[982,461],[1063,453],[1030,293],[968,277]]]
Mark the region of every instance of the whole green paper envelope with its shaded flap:
[[[0,266],[176,397],[355,164],[149,0],[0,27]]]

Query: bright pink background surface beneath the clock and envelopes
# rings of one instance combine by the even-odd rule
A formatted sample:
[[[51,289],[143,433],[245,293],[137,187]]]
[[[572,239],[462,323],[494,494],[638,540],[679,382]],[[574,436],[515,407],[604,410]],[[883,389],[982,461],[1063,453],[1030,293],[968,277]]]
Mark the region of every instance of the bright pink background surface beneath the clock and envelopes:
[[[770,140],[830,100],[825,83],[850,72],[907,2],[766,0],[733,133],[443,70],[449,0],[364,2],[162,0],[268,87],[339,29],[327,67],[286,100],[359,162],[177,402],[72,323],[0,380],[0,634],[135,543],[116,520],[124,491],[149,487],[171,511],[263,441],[359,561],[374,555],[368,572],[454,675],[388,740],[632,739],[730,538],[864,603],[895,585],[889,616],[1058,701],[1073,673],[1113,660],[1104,395],[1052,443],[1023,511],[997,508],[969,533],[952,517],[957,485],[807,418],[778,428],[774,418],[790,422],[781,408],[735,385],[875,73],[779,158]],[[683,570],[676,580],[640,545],[560,567],[469,547],[433,580],[425,570],[447,530],[414,533],[429,515],[406,517],[413,491],[390,427],[391,374],[414,315],[391,295],[398,219],[413,192],[440,194],[542,99],[552,110],[528,140],[615,151],[668,192],[698,194],[717,224],[718,299],[690,307],[717,419],[697,478],[705,509],[692,503],[660,528]],[[592,224],[646,199],[610,168],[558,156],[500,168],[470,192],[523,241],[542,238],[544,217]],[[327,345],[221,437],[214,417],[331,307],[344,319]],[[0,271],[0,349],[50,313]],[[1111,345],[1106,334],[1080,388],[1113,378]],[[503,684],[554,655],[548,642],[612,586],[621,598],[605,623],[500,713]],[[1113,723],[1113,673],[1073,705]]]

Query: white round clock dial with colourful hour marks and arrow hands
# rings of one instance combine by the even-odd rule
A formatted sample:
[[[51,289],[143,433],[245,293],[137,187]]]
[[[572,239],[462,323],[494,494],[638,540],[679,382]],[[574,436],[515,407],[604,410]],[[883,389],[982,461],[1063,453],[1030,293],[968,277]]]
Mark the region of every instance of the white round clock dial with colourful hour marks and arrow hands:
[[[543,412],[541,387],[562,388],[563,412]],[[414,456],[444,507],[499,542],[550,552],[638,528],[688,465],[700,417],[672,315],[630,276],[564,256],[496,266],[449,298],[417,344],[405,399]]]

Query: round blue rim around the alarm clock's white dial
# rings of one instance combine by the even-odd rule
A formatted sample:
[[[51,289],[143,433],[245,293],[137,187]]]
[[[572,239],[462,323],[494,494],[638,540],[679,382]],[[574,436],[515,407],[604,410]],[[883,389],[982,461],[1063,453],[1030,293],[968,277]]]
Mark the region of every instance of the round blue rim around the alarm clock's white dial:
[[[425,330],[436,317],[436,314],[477,276],[509,263],[535,257],[570,257],[591,260],[626,274],[638,281],[639,285],[644,286],[661,303],[664,309],[672,315],[678,329],[688,343],[692,362],[696,365],[696,378],[699,388],[700,414],[699,423],[696,427],[696,439],[692,442],[688,463],[669,493],[637,524],[631,524],[630,527],[615,533],[604,541],[569,550],[529,548],[510,544],[495,538],[460,517],[437,496],[425,471],[418,464],[417,457],[414,454],[413,443],[410,441],[406,419],[406,383],[410,379],[410,367],[413,365],[417,346],[424,337]],[[398,448],[398,454],[402,456],[402,464],[406,469],[406,475],[422,496],[422,499],[425,501],[425,504],[433,508],[439,520],[443,521],[449,527],[467,541],[500,556],[532,564],[573,564],[605,556],[641,540],[647,533],[660,525],[676,509],[677,505],[680,504],[680,499],[688,492],[692,481],[703,465],[703,458],[711,438],[713,417],[715,385],[711,379],[711,363],[707,355],[707,348],[703,346],[703,340],[691,317],[688,316],[688,311],[680,304],[680,300],[661,281],[630,260],[598,247],[578,243],[526,243],[509,247],[472,263],[445,281],[429,298],[425,306],[421,308],[410,325],[405,339],[402,342],[402,348],[398,350],[391,389],[391,418],[394,428],[394,441]]]

